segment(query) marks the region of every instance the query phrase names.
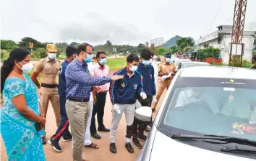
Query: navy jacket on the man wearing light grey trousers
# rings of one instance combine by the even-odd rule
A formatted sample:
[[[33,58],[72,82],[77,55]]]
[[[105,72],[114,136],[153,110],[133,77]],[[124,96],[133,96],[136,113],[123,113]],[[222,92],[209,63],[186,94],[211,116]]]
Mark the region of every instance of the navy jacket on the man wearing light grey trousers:
[[[131,77],[127,74],[126,68],[119,70],[114,75],[124,75],[121,80],[111,81],[109,94],[113,104],[134,104],[143,92],[143,84],[139,72],[135,72]]]

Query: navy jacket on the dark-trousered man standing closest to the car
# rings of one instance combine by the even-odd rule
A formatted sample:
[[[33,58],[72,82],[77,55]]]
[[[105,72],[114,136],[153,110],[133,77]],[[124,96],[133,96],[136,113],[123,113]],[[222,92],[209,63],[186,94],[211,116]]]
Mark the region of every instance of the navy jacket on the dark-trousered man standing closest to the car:
[[[142,75],[143,89],[147,96],[155,96],[155,72],[153,66],[140,63],[137,71]]]

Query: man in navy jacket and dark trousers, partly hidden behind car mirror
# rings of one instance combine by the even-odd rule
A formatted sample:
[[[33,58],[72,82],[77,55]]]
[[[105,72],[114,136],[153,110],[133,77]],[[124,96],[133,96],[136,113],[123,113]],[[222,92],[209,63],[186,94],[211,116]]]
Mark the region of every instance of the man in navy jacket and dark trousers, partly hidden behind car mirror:
[[[146,99],[142,99],[142,97],[138,97],[138,101],[142,106],[151,107],[151,103],[156,102],[156,89],[155,89],[155,77],[154,77],[154,68],[150,64],[153,52],[148,49],[143,49],[140,52],[141,63],[138,65],[138,72],[142,75],[142,83],[144,87],[144,91],[147,95]],[[140,144],[139,140],[145,142],[147,137],[144,135],[144,129],[147,124],[143,124],[141,121],[134,119],[133,122],[133,137],[132,142],[135,144],[135,147],[141,149],[142,144]]]

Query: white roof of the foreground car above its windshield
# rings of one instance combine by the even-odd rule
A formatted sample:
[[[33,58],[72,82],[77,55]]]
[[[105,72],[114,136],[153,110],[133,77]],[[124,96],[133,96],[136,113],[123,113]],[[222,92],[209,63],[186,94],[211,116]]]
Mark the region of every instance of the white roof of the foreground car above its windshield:
[[[229,66],[194,66],[182,68],[179,77],[233,78],[256,80],[256,70]]]

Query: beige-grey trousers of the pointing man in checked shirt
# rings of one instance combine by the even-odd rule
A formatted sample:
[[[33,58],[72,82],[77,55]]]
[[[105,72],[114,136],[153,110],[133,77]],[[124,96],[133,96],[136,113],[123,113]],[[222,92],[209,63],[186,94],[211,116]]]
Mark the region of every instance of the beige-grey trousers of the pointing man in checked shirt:
[[[67,99],[66,111],[69,118],[70,132],[73,136],[73,161],[82,161],[82,147],[90,114],[90,103],[74,102]]]

